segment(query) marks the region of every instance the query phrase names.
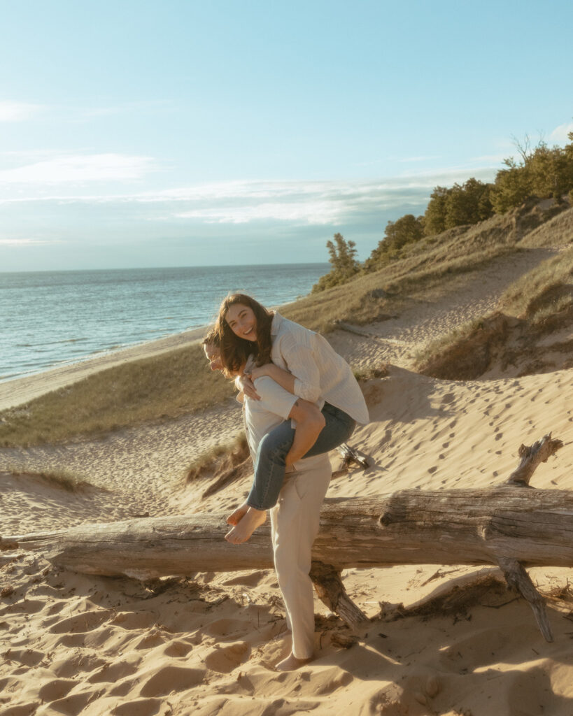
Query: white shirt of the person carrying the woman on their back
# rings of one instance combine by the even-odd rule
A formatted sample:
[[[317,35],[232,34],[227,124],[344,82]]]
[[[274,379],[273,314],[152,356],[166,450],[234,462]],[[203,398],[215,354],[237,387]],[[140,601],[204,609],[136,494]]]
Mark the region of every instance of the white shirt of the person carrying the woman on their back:
[[[263,439],[267,432],[272,430],[276,425],[280,425],[283,420],[287,420],[292,406],[297,401],[297,396],[292,395],[284,390],[272,378],[263,376],[257,378],[254,382],[256,392],[261,396],[261,400],[245,399],[243,404],[243,417],[245,421],[246,439],[249,443],[249,450],[253,462],[256,460],[256,453],[259,450],[259,442]],[[304,458],[297,460],[292,468],[287,468],[287,472],[294,470],[302,470],[309,468],[314,463],[324,462],[330,465],[327,455],[314,455],[312,458]]]

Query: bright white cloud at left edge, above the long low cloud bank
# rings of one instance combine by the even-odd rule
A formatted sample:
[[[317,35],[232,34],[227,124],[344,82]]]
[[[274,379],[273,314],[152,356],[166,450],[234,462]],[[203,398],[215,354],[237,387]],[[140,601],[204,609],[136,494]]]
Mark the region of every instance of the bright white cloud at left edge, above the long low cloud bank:
[[[0,184],[54,185],[140,179],[153,169],[148,157],[122,154],[60,155],[0,170]]]

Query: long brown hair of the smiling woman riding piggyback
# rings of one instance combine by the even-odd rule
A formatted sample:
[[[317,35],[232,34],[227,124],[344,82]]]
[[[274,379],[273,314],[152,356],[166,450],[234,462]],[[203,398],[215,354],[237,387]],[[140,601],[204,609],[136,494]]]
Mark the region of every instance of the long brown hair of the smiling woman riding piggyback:
[[[248,306],[256,318],[256,341],[247,341],[233,333],[226,319],[230,306],[241,304]],[[223,299],[219,309],[215,330],[218,334],[221,347],[221,363],[226,373],[236,373],[254,355],[257,365],[271,362],[271,322],[273,313],[267,311],[259,301],[251,299],[246,294],[231,294]]]

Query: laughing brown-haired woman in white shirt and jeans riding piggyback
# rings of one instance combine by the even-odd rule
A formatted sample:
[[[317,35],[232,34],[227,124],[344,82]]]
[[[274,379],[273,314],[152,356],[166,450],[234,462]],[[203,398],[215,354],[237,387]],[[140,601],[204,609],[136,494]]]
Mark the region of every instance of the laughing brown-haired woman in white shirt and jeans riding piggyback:
[[[240,372],[250,356],[247,368],[236,378],[246,400],[259,399],[254,381],[268,376],[322,411],[325,425],[305,457],[336,448],[348,440],[357,422],[369,421],[352,369],[320,334],[268,311],[246,294],[231,294],[223,300],[216,332],[221,364],[228,375]],[[247,508],[265,511],[276,504],[293,440],[290,421],[261,440],[253,488],[239,513],[246,513]],[[238,517],[241,519],[241,514]]]

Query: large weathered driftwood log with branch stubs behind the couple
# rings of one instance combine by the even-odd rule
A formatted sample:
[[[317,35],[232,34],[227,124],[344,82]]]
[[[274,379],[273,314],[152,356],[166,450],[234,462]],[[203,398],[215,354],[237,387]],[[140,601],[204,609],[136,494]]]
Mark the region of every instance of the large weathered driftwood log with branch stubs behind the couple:
[[[541,633],[551,641],[544,600],[524,568],[573,566],[573,493],[529,487],[536,466],[561,447],[551,435],[529,448],[522,445],[519,468],[492,488],[400,490],[379,498],[325,500],[311,572],[319,596],[356,625],[366,617],[345,593],[342,569],[494,564],[529,601]],[[73,571],[137,579],[269,569],[268,524],[236,546],[222,538],[225,518],[212,513],[82,525],[0,538],[0,550],[41,550]]]

